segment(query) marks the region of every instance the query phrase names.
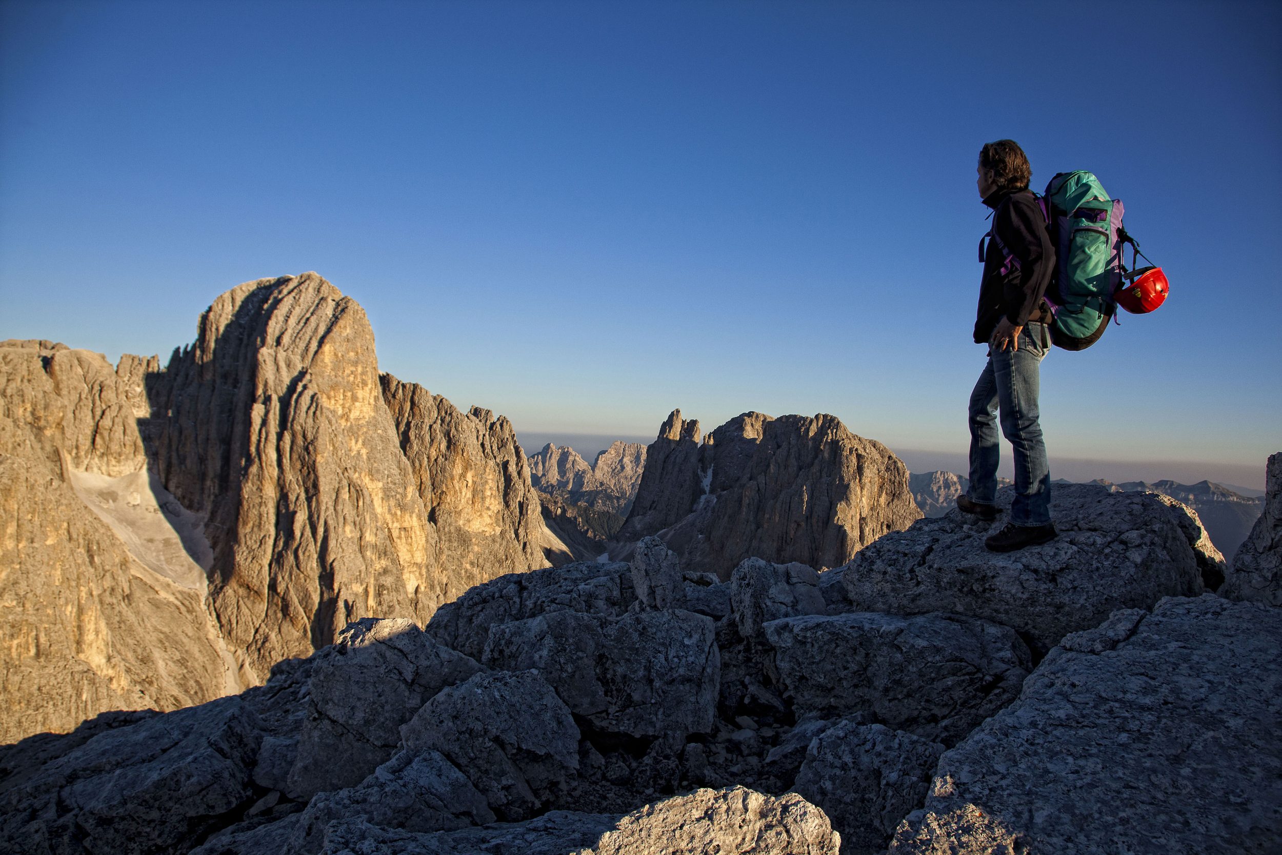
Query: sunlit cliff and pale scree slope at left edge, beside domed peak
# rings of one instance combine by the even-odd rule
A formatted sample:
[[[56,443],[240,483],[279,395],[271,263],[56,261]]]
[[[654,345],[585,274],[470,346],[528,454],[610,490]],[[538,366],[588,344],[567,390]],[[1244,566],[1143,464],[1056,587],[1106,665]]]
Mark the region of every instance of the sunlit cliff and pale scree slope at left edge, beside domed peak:
[[[146,476],[135,418],[146,368],[0,342],[0,742],[240,688],[182,510]],[[142,535],[140,555],[118,528]]]

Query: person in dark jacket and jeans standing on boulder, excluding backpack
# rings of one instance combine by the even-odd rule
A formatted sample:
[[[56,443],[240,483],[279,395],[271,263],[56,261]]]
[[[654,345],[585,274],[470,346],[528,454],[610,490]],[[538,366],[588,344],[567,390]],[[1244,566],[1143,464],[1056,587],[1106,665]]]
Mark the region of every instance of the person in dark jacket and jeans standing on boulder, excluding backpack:
[[[1037,197],[1028,190],[1032,168],[1013,140],[979,150],[979,196],[994,210],[974,341],[988,346],[988,364],[970,392],[970,487],[958,508],[994,519],[997,494],[997,411],[1015,454],[1015,499],[1010,522],[985,545],[1009,552],[1055,537],[1050,522],[1050,468],[1037,423],[1040,365],[1050,346],[1042,300],[1055,269],[1055,247]]]

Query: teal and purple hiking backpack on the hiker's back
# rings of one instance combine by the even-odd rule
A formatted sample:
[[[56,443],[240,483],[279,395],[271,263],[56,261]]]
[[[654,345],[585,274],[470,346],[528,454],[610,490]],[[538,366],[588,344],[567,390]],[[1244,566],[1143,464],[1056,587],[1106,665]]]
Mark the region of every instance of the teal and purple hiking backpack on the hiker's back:
[[[1092,173],[1059,173],[1038,201],[1058,259],[1046,288],[1054,318],[1050,337],[1065,350],[1083,350],[1100,340],[1117,311],[1114,295],[1127,276],[1126,244],[1132,249],[1132,268],[1136,255],[1144,254],[1122,228],[1122,200],[1110,199]]]

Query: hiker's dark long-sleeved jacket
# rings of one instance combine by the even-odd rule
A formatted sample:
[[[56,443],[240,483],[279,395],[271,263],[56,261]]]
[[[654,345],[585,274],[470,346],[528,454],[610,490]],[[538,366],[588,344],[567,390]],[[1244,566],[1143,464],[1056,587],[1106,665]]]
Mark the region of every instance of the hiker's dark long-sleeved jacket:
[[[983,204],[995,212],[992,228],[999,240],[988,238],[985,250],[979,310],[974,320],[974,341],[979,345],[988,344],[1003,315],[1017,327],[1029,320],[1047,320],[1041,318],[1040,306],[1055,273],[1055,246],[1032,192],[999,192]],[[1018,261],[1006,265],[1005,273],[1001,272],[1006,259],[1003,245]]]

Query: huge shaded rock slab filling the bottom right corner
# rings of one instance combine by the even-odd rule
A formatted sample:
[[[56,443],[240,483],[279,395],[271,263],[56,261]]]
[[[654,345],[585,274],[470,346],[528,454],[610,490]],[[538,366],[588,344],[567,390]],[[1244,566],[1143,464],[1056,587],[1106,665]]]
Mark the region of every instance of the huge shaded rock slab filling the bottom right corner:
[[[1282,611],[1213,595],[1065,637],[890,851],[1282,851],[1279,650]]]

